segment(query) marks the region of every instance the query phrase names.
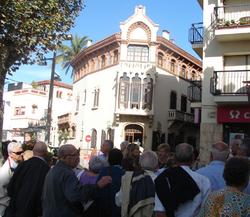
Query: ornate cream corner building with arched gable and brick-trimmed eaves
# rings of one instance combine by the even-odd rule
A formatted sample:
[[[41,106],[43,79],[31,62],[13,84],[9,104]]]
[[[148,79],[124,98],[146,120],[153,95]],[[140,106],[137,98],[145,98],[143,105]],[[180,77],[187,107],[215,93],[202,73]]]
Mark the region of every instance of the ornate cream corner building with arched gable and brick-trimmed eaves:
[[[137,6],[119,33],[72,61],[77,146],[99,149],[104,139],[153,149],[161,142],[199,143],[187,89],[200,80],[201,62],[158,29]]]

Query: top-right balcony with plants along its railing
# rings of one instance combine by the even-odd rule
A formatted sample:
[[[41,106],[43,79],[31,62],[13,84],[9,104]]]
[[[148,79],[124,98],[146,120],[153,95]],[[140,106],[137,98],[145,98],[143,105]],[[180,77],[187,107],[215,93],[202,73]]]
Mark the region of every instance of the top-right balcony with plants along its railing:
[[[212,26],[218,41],[250,40],[250,4],[215,7]]]

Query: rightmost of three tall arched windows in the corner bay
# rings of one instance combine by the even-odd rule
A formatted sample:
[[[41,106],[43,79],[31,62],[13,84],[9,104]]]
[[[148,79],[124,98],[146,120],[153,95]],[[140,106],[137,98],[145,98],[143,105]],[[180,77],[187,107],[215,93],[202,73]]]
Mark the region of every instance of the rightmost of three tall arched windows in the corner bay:
[[[143,79],[143,109],[152,109],[153,79],[150,75]]]

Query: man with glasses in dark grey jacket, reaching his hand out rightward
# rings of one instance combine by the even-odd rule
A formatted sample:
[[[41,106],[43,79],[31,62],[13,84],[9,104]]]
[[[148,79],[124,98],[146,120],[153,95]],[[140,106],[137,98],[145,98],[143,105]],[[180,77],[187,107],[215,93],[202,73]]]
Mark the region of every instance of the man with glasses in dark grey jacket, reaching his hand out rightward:
[[[73,171],[79,163],[79,150],[71,144],[59,148],[58,159],[44,182],[43,217],[80,217],[82,204],[94,199],[98,188],[111,183],[111,177],[103,177],[96,185],[81,185]]]

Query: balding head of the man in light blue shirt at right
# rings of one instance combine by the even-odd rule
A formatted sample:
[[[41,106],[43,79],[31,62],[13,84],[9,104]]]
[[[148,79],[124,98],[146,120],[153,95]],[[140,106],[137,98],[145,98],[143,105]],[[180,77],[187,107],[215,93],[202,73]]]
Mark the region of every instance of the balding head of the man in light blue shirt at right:
[[[229,155],[228,144],[219,141],[212,145],[211,148],[212,160],[226,161]]]

